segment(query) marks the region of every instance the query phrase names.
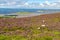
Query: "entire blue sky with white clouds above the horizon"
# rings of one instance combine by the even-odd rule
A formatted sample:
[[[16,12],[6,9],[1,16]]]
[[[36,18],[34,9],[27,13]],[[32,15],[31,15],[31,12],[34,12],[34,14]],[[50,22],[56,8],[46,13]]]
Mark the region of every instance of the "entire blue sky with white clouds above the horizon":
[[[0,0],[0,8],[60,9],[60,0]]]

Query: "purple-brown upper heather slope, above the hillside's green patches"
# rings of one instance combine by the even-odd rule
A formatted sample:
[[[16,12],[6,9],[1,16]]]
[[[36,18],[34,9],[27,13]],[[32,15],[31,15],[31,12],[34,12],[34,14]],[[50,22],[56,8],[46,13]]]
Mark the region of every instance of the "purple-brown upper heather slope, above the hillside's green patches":
[[[44,22],[43,22],[44,21]],[[30,26],[41,26],[45,24],[48,27],[60,27],[60,13],[56,14],[45,14],[40,16],[34,17],[25,17],[25,18],[1,18],[0,19],[0,26],[9,26],[9,27],[30,27]]]

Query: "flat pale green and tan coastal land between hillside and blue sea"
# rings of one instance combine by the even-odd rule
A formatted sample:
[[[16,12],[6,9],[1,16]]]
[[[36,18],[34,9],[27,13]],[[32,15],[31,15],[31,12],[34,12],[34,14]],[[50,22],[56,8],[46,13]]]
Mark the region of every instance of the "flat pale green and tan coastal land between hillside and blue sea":
[[[60,13],[60,12],[56,12]],[[39,15],[49,15],[56,13],[30,13],[30,12],[22,12],[22,13],[11,13],[11,14],[0,14],[0,17],[15,17],[15,18],[25,18],[25,17],[34,17]]]

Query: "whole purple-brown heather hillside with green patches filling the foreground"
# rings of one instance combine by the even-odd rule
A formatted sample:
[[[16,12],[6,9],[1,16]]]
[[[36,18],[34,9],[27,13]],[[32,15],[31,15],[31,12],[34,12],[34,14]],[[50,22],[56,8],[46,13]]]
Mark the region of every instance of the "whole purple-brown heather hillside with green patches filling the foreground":
[[[0,40],[60,40],[60,13],[0,18]]]

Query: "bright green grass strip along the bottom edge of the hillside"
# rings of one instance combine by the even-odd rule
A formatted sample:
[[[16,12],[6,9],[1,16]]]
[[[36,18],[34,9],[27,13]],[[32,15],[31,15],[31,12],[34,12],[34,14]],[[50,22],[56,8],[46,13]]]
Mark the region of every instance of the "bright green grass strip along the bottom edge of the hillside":
[[[53,37],[51,36],[46,36],[46,37],[32,37],[32,38],[27,38],[19,35],[15,36],[8,36],[8,35],[0,35],[0,40],[52,40]]]

